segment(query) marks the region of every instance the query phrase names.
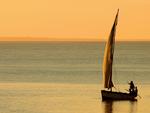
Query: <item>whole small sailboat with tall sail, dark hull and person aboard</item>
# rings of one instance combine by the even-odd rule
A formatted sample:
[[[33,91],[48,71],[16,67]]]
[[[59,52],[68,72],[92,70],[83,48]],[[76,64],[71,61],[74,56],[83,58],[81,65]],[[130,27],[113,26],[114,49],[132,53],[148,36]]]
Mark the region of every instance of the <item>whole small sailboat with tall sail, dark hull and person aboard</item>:
[[[116,26],[118,22],[119,9],[117,11],[114,24],[112,26],[108,41],[106,42],[104,60],[103,60],[103,82],[104,90],[101,90],[102,100],[136,100],[137,87],[134,86],[133,81],[130,83],[130,89],[128,92],[112,91],[114,83],[112,81],[112,67],[113,67],[113,56],[115,47],[115,34]]]

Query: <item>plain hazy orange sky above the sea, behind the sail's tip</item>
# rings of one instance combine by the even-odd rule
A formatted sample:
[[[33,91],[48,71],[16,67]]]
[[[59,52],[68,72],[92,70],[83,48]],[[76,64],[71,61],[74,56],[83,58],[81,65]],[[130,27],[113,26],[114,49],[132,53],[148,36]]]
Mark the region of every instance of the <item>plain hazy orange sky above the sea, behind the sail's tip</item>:
[[[117,40],[150,40],[150,0],[0,0],[0,40],[105,40],[118,8]]]

